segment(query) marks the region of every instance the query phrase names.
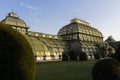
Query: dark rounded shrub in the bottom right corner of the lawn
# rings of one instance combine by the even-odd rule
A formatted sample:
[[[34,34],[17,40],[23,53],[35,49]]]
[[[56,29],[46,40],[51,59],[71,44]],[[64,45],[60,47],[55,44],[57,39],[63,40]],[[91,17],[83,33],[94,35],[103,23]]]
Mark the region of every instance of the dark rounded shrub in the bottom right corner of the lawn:
[[[93,80],[120,80],[120,63],[114,59],[97,61],[92,68]]]

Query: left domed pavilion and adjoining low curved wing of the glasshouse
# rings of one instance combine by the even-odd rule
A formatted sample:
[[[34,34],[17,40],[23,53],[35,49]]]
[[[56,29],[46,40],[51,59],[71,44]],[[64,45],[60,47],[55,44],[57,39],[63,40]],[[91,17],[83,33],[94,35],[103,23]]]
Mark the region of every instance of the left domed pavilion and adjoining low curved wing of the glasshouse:
[[[16,13],[10,12],[2,23],[19,31],[30,43],[36,61],[62,60],[62,53],[67,51],[66,42],[57,35],[28,31],[27,24]]]

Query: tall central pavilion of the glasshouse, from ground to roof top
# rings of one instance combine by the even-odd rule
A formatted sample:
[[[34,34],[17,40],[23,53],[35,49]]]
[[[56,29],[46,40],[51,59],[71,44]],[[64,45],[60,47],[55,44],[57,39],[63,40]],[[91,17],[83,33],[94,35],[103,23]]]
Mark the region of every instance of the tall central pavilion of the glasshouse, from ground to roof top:
[[[58,35],[68,42],[69,52],[66,56],[70,60],[94,59],[100,52],[97,45],[103,43],[103,35],[100,31],[91,27],[88,22],[77,18],[62,27]]]

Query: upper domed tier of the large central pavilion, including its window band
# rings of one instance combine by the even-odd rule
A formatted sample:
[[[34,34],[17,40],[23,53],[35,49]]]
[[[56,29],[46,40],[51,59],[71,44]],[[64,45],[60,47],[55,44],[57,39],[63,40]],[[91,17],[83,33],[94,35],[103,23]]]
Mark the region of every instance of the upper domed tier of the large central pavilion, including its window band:
[[[59,36],[66,39],[79,39],[84,41],[102,42],[103,35],[96,28],[90,26],[90,24],[81,19],[72,19],[71,23],[62,27],[59,32]]]

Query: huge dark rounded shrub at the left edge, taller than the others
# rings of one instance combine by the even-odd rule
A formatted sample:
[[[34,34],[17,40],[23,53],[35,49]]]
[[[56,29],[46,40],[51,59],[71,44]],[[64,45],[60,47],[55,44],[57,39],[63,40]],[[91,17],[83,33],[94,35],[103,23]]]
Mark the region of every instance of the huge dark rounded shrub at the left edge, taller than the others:
[[[18,31],[0,23],[0,80],[35,80],[32,48]]]

